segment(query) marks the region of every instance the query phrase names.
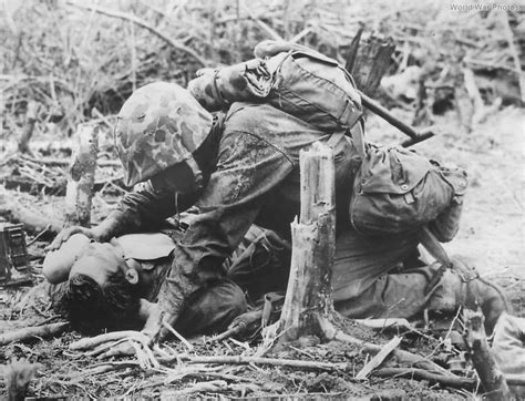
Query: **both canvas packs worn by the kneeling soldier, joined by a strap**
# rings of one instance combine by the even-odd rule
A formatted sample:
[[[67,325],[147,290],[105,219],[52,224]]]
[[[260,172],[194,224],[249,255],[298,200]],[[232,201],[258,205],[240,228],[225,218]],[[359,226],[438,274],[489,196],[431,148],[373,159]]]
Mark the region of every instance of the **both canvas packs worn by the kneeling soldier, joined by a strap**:
[[[272,41],[259,43],[255,53],[257,59],[203,71],[189,82],[189,92],[210,112],[259,101],[334,133],[332,137],[350,134],[359,163],[352,164],[349,214],[358,233],[398,235],[429,225],[440,241],[455,236],[467,185],[464,171],[401,147],[366,148],[361,123],[356,124],[362,116],[360,95],[336,60]]]

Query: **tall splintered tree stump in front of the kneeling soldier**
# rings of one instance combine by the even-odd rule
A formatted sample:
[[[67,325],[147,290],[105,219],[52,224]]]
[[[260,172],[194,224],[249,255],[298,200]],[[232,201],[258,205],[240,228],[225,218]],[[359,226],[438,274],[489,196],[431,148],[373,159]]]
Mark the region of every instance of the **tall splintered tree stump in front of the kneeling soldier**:
[[[291,224],[290,278],[279,342],[301,336],[327,338],[333,313],[331,268],[336,244],[334,162],[330,147],[315,143],[300,153],[301,212]],[[328,337],[332,337],[330,333]]]

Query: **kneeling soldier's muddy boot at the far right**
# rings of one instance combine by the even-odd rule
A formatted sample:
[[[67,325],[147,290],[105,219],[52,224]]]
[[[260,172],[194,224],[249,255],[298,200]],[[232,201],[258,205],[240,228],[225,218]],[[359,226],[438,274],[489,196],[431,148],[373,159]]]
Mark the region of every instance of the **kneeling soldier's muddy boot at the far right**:
[[[452,268],[443,271],[440,285],[429,300],[429,310],[454,313],[459,307],[480,307],[485,316],[485,331],[491,336],[500,315],[509,312],[503,291],[496,285],[480,277],[475,268],[453,258]]]

